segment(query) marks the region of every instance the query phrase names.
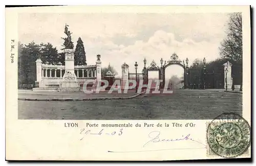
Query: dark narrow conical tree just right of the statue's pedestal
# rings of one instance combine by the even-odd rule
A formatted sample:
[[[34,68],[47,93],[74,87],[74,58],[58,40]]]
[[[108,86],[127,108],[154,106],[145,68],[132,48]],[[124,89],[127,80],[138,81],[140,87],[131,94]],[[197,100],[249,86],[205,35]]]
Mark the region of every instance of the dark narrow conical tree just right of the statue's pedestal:
[[[84,46],[81,38],[79,37],[76,44],[76,49],[74,53],[75,65],[87,65],[86,63],[86,51],[84,51]]]

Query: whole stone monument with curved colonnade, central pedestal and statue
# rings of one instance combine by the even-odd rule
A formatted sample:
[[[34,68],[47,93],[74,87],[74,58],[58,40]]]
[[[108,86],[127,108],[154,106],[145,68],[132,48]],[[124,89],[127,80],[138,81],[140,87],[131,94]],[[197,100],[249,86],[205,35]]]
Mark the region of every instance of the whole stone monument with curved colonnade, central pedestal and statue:
[[[97,54],[95,65],[76,65],[74,64],[74,44],[68,30],[69,25],[65,25],[64,33],[67,35],[63,49],[65,53],[65,65],[43,64],[41,53],[36,60],[36,81],[33,91],[82,91],[85,81],[94,79],[101,81],[101,60]]]

